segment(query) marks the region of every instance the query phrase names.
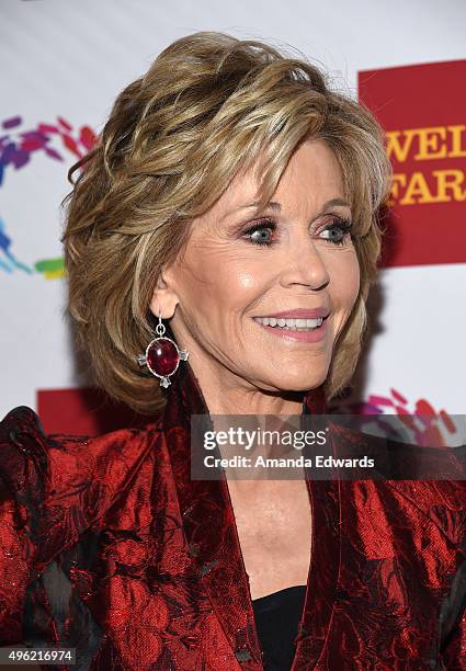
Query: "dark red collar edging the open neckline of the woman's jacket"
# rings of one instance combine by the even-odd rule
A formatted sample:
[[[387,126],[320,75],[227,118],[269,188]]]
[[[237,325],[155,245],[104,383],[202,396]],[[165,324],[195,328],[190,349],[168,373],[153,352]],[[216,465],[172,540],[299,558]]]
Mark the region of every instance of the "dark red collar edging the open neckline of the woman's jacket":
[[[208,409],[189,362],[173,376],[167,400],[163,433],[194,568],[241,668],[262,669],[249,579],[227,480],[191,479],[191,416],[208,416]],[[326,410],[322,387],[305,395],[303,414]],[[340,561],[339,482],[306,479],[306,485],[312,514],[311,564],[293,669],[304,668],[303,664],[310,668],[322,651]]]

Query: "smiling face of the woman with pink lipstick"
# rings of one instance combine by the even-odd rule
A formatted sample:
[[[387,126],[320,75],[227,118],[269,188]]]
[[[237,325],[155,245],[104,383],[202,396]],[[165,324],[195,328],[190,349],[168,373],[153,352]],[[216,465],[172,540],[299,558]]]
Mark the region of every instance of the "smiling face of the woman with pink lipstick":
[[[321,140],[297,149],[259,215],[251,206],[257,189],[252,172],[238,174],[193,221],[185,253],[162,273],[151,309],[173,317],[178,345],[201,383],[307,390],[327,377],[360,288],[344,224],[351,209],[339,163]],[[327,317],[312,330],[316,311]]]

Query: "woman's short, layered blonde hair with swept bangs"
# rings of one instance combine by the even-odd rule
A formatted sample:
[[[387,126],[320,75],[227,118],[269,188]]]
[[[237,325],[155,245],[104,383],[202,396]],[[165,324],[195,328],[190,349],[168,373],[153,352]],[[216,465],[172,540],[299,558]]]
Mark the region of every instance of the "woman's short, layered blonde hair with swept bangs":
[[[166,48],[117,96],[80,170],[62,236],[69,311],[94,380],[141,413],[159,411],[159,380],[137,356],[154,338],[157,278],[183,249],[190,221],[240,168],[258,166],[259,208],[291,156],[318,138],[334,152],[353,212],[361,289],[325,383],[327,399],[354,373],[367,326],[366,298],[380,252],[378,211],[390,163],[374,116],[332,91],[306,58],[253,39],[201,32]]]

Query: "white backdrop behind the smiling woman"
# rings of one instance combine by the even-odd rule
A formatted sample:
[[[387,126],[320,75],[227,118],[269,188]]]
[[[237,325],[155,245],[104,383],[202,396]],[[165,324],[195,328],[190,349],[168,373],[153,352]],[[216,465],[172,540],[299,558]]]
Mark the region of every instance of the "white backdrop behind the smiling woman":
[[[198,30],[289,44],[356,96],[359,70],[466,58],[465,25],[464,0],[1,0],[0,417],[35,408],[37,389],[86,382],[62,316],[65,281],[35,265],[59,265],[59,203],[76,160],[62,138],[78,138],[83,126],[99,133],[116,94],[163,47]],[[18,148],[20,134],[39,124],[59,129],[47,132],[58,158],[34,149],[31,136],[27,162],[15,167],[5,147]],[[466,264],[380,273],[383,309],[360,363],[359,399],[390,399],[396,389],[410,411],[427,399],[465,412],[465,288]]]

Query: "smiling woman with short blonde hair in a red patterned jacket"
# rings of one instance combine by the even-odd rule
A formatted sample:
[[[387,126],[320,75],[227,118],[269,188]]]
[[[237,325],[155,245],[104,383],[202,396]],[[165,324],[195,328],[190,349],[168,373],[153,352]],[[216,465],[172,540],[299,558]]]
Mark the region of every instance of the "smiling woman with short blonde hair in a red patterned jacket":
[[[197,33],[77,168],[70,312],[149,423],[3,420],[3,645],[93,671],[466,668],[462,482],[190,476],[193,414],[321,413],[353,374],[390,182],[370,112],[305,60]]]

